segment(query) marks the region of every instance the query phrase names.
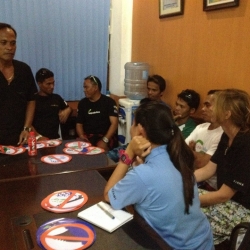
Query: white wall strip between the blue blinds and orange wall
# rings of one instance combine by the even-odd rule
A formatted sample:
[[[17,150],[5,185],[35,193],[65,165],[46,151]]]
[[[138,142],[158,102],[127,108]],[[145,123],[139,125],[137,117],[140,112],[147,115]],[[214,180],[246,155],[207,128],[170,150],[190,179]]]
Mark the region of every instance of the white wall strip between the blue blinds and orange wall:
[[[133,0],[111,0],[109,90],[124,95],[124,65],[131,62]]]

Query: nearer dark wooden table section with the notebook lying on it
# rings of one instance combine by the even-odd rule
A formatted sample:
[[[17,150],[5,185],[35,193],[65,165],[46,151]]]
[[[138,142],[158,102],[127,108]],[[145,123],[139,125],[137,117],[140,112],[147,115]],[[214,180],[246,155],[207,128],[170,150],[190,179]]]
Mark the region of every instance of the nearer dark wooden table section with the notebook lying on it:
[[[96,170],[37,175],[33,178],[0,182],[1,249],[40,249],[35,240],[37,228],[51,219],[76,218],[79,211],[103,200],[105,184],[105,179]],[[41,201],[52,192],[63,189],[85,192],[88,195],[87,203],[75,212],[64,214],[43,210]],[[96,241],[89,249],[159,249],[134,220],[112,234],[98,227],[95,229]],[[29,230],[33,248],[26,247],[24,230]]]

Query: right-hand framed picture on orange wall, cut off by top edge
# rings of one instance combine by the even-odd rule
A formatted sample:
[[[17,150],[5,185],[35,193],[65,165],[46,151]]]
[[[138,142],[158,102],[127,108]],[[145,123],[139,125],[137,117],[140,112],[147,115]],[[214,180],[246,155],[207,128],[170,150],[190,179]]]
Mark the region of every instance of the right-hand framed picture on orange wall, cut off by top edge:
[[[239,6],[240,0],[203,0],[203,10],[218,10],[228,7]]]

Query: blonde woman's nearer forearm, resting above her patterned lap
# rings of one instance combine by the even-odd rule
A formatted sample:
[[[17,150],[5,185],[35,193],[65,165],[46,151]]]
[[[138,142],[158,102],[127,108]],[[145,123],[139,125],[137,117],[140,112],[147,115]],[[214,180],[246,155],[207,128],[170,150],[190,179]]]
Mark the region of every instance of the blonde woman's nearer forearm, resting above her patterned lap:
[[[230,200],[237,191],[223,184],[217,191],[208,192],[200,195],[200,202],[202,207],[223,203]]]

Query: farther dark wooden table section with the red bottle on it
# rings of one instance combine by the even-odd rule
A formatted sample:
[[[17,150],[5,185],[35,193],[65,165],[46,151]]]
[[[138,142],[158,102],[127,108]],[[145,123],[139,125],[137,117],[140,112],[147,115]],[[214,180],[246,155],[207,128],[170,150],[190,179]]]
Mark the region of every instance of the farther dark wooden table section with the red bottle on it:
[[[0,154],[0,182],[13,178],[27,178],[36,175],[46,175],[76,170],[99,170],[100,172],[113,170],[116,163],[105,153],[97,155],[71,155],[72,160],[58,165],[51,165],[41,161],[41,157],[50,154],[64,154],[65,144],[72,140],[64,140],[56,147],[40,148],[37,156],[30,157],[27,150],[18,155]]]

